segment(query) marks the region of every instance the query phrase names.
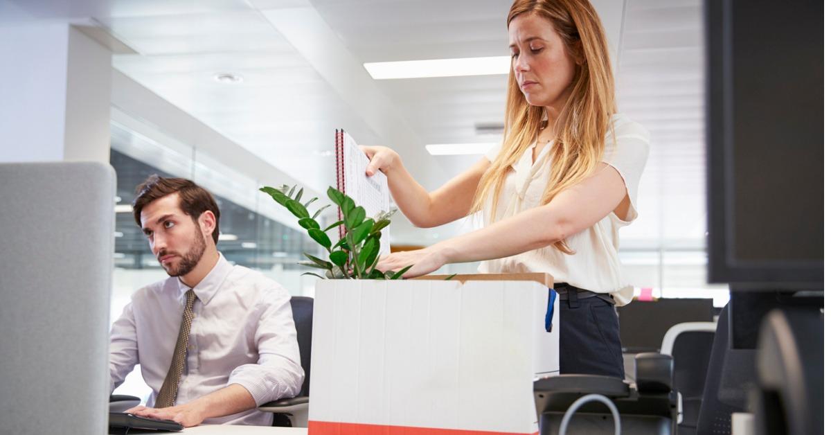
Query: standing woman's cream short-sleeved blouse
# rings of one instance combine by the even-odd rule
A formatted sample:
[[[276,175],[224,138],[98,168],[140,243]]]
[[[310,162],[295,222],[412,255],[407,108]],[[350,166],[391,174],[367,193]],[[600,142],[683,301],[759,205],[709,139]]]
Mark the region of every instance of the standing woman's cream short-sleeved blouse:
[[[525,150],[519,161],[512,165],[499,192],[496,206],[496,220],[507,219],[524,210],[537,207],[545,192],[545,185],[551,175],[551,146],[532,144]],[[543,146],[537,159],[532,158],[534,147]],[[494,161],[499,146],[485,155]],[[627,116],[612,116],[606,134],[602,162],[612,166],[622,177],[629,195],[630,206],[624,219],[614,212],[587,229],[566,238],[573,255],[564,254],[552,246],[530,250],[503,259],[487,260],[479,264],[479,272],[485,274],[545,272],[551,274],[554,282],[572,284],[581,289],[611,294],[618,306],[632,300],[634,289],[625,282],[621,274],[617,250],[620,245],[618,231],[637,218],[637,185],[649,155],[649,132],[640,124],[630,121]],[[492,200],[484,202],[485,225],[489,225]]]

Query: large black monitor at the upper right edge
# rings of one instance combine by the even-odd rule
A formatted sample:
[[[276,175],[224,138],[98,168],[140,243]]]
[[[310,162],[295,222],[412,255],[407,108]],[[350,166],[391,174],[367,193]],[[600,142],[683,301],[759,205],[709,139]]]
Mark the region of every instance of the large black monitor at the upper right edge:
[[[823,2],[705,9],[709,280],[822,289]]]

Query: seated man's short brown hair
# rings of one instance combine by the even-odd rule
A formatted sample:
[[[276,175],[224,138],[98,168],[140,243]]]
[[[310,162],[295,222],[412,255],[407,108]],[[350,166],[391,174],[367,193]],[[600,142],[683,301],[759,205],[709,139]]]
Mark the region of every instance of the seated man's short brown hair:
[[[189,215],[197,224],[199,216],[210,210],[216,216],[216,228],[214,228],[214,244],[219,243],[219,207],[216,205],[214,196],[208,190],[204,190],[191,180],[184,178],[165,178],[159,175],[150,175],[145,182],[135,188],[135,200],[133,201],[133,217],[135,223],[141,226],[141,210],[145,205],[158,200],[161,197],[178,193],[179,208]]]

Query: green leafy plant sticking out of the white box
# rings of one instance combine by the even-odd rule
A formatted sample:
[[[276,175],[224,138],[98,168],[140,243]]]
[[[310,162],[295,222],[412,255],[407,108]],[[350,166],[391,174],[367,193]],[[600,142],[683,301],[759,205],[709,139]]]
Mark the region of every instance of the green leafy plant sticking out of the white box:
[[[390,225],[390,216],[396,210],[382,212],[375,217],[367,217],[366,210],[360,205],[356,206],[355,200],[329,187],[327,195],[335,205],[341,208],[343,220],[322,228],[317,217],[329,207],[328,204],[310,215],[308,207],[317,198],[312,198],[305,204],[302,203],[303,190],[297,190],[297,185],[292,187],[282,185],[279,188],[265,186],[260,190],[271,195],[273,200],[296,216],[297,224],[307,231],[312,240],[327,251],[328,260],[304,252],[303,255],[308,261],[301,261],[299,264],[324,271],[322,275],[312,272],[304,274],[314,275],[321,279],[400,279],[401,275],[411,268],[407,266],[398,271],[388,270],[386,273],[375,268],[381,250],[381,230]],[[296,193],[295,190],[297,190]],[[339,225],[344,225],[346,235],[332,242],[327,231],[337,229]]]

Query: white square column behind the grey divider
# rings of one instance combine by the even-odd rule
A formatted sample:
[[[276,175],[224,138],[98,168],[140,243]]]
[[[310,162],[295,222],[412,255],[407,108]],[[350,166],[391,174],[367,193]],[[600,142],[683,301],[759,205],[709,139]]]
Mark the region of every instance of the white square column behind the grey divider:
[[[66,22],[0,27],[0,162],[109,163],[111,69]]]

